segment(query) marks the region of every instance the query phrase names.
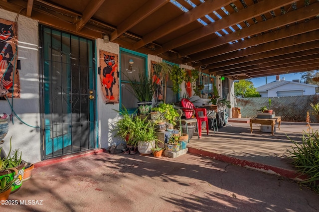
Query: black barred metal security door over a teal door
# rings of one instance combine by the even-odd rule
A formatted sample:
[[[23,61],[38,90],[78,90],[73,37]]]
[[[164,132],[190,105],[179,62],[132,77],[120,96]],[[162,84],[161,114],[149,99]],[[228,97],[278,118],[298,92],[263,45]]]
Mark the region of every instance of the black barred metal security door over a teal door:
[[[41,26],[43,159],[95,148],[94,41]]]

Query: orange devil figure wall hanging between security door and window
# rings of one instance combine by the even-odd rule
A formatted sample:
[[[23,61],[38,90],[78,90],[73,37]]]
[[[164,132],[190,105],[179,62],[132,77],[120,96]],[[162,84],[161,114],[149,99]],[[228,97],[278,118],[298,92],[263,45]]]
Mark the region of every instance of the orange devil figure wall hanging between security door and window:
[[[105,104],[119,103],[118,55],[100,50],[101,80]]]

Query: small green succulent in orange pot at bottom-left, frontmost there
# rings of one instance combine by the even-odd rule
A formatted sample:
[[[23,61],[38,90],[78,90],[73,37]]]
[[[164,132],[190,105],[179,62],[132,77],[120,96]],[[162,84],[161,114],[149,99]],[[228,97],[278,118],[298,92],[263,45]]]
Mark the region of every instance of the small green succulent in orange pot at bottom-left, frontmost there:
[[[10,192],[12,190],[12,184],[17,178],[18,170],[10,168],[10,169],[7,169],[8,173],[9,172],[11,173],[11,171],[9,171],[9,170],[14,171],[14,174],[12,176],[11,175],[3,175],[3,177],[0,178],[0,201],[8,199]]]

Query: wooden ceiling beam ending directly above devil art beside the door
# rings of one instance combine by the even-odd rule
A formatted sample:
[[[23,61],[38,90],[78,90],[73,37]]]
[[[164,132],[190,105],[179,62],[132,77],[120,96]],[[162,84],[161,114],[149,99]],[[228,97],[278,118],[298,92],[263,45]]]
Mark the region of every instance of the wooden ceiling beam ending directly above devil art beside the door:
[[[112,32],[110,41],[114,41],[128,29],[132,28],[144,18],[148,17],[150,14],[158,10],[160,7],[165,5],[169,0],[149,0],[138,10],[132,13],[128,18],[126,18],[122,23],[117,26],[117,29]]]

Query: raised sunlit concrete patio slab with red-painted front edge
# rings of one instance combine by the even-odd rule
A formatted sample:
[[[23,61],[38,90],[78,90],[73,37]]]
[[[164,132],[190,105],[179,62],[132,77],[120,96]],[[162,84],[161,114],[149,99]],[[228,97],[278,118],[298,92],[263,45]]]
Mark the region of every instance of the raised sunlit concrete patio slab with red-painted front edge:
[[[249,119],[232,118],[216,134],[212,130],[209,135],[202,132],[200,139],[195,133],[188,144],[188,152],[288,178],[298,177],[292,160],[287,157],[287,150],[294,146],[288,137],[294,141],[302,141],[303,130],[308,129],[306,123],[283,121],[280,129],[276,124],[273,136],[270,132],[261,132],[260,124],[256,123],[253,123],[251,133],[249,123],[243,121],[249,122]],[[311,123],[311,126],[314,130],[319,130],[318,123]]]

